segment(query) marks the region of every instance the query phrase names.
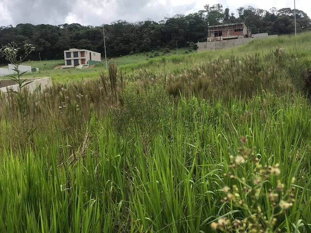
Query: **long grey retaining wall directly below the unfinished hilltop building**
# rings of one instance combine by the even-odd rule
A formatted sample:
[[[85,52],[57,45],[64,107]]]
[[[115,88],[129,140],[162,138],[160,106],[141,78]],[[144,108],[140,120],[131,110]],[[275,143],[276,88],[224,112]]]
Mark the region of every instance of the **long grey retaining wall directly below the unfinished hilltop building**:
[[[205,50],[221,50],[232,48],[235,46],[243,45],[250,42],[250,38],[240,38],[240,39],[232,39],[232,40],[222,40],[222,41],[210,41],[210,42],[199,42],[198,51]]]

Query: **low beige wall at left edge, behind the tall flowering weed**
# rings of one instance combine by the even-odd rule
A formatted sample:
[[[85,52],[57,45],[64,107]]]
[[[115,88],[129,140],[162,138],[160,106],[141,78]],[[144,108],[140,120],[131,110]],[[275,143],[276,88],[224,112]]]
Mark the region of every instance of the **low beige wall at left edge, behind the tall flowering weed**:
[[[27,88],[30,93],[33,93],[35,89],[41,87],[44,90],[47,87],[52,86],[52,79],[50,77],[29,79],[29,83],[24,88]],[[8,90],[18,91],[18,84],[15,84],[12,80],[0,81],[0,92],[8,92]]]

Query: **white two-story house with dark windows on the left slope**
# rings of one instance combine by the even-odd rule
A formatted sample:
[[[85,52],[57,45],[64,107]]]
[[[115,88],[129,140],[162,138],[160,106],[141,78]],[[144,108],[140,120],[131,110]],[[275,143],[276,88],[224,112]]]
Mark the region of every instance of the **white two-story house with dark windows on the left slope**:
[[[89,65],[89,61],[101,62],[102,55],[99,52],[90,50],[70,49],[64,51],[65,66],[71,68],[79,65]]]

